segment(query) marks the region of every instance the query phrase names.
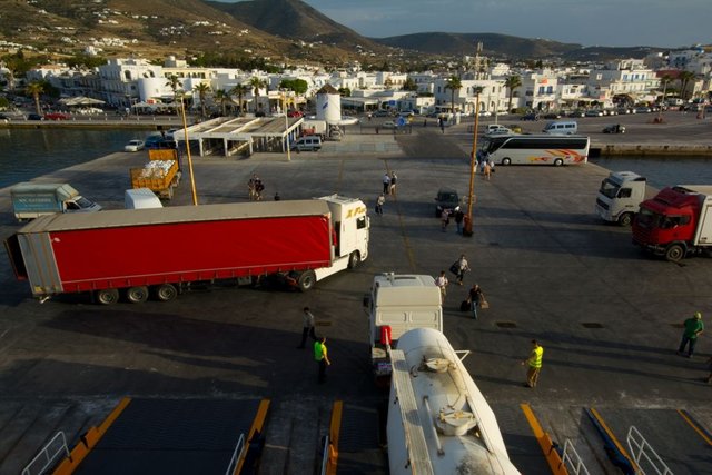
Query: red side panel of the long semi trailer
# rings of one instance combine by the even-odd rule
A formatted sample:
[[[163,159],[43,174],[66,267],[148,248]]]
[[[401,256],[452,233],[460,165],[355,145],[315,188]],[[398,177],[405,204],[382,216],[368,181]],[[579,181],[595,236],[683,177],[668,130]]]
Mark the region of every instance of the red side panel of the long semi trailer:
[[[50,231],[63,291],[327,267],[326,216]]]

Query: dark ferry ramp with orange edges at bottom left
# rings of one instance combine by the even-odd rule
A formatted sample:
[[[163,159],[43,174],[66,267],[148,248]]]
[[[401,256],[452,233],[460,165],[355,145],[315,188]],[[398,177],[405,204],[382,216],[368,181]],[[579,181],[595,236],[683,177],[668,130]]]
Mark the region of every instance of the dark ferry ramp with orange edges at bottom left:
[[[250,473],[268,406],[266,399],[126,398],[55,473]],[[235,462],[241,435],[245,458]]]

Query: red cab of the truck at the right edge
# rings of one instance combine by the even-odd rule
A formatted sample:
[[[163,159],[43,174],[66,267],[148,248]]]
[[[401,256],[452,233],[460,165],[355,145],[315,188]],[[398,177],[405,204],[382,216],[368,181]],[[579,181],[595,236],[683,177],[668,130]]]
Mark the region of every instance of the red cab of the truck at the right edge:
[[[633,222],[633,243],[679,261],[698,245],[698,228],[705,196],[684,187],[668,187],[641,202]]]

